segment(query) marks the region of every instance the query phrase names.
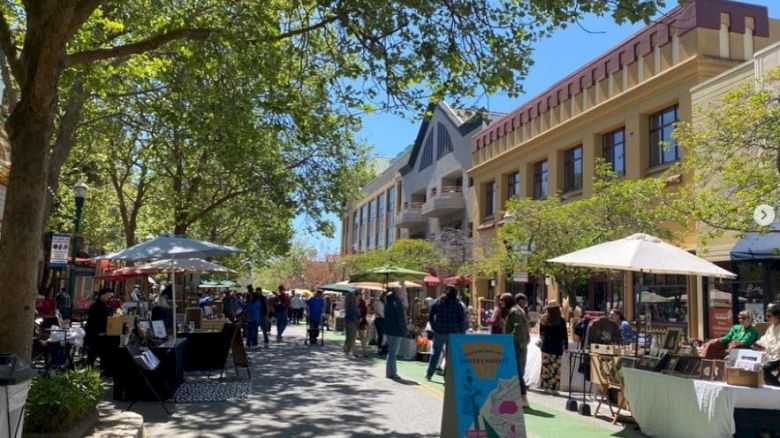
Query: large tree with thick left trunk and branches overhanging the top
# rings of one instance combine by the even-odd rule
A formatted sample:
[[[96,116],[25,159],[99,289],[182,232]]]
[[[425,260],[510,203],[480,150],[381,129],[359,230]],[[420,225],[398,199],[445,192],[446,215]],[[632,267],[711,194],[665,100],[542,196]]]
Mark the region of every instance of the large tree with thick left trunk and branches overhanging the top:
[[[331,97],[349,108],[408,105],[435,97],[521,91],[530,45],[584,13],[616,20],[646,19],[661,0],[595,0],[493,4],[479,0],[396,2],[240,2],[207,0],[108,2],[39,0],[0,5],[0,49],[18,90],[5,122],[11,144],[6,217],[0,239],[0,350],[29,357],[37,244],[46,222],[46,184],[53,159],[66,149],[52,143],[59,91],[98,65],[110,68],[138,54],[182,40],[232,42],[231,49],[262,51],[263,75],[294,42],[311,53],[301,70],[331,72]],[[153,54],[149,55],[154,56]],[[73,76],[71,76],[73,75]],[[64,82],[63,82],[64,81]],[[365,87],[354,87],[355,81]],[[74,80],[72,84],[77,84]],[[14,87],[11,87],[14,88]],[[90,92],[92,90],[86,90]],[[417,102],[422,104],[422,102]],[[54,149],[52,149],[54,148]],[[64,161],[64,159],[63,159]],[[21,295],[21,299],[19,297]]]

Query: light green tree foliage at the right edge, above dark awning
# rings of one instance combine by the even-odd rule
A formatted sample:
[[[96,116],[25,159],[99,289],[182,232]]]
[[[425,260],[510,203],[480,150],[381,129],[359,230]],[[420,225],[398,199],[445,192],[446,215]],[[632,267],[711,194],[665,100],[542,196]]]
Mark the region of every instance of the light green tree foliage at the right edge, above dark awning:
[[[685,155],[670,173],[692,175],[693,181],[671,201],[704,225],[705,240],[724,231],[765,231],[753,221],[753,210],[780,205],[780,70],[762,82],[697,108],[700,121],[680,122],[674,131]]]

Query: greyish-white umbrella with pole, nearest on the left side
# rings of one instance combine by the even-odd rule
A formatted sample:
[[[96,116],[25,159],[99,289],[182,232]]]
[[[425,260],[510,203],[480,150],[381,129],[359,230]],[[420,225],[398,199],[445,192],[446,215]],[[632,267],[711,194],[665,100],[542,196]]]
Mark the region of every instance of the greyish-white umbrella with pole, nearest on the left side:
[[[161,234],[154,239],[147,240],[123,250],[95,257],[97,260],[124,260],[128,262],[142,262],[167,259],[168,271],[171,273],[171,288],[173,296],[173,340],[176,340],[176,269],[177,263],[182,259],[209,258],[242,252],[241,249],[218,245],[203,240],[188,239],[186,237]]]

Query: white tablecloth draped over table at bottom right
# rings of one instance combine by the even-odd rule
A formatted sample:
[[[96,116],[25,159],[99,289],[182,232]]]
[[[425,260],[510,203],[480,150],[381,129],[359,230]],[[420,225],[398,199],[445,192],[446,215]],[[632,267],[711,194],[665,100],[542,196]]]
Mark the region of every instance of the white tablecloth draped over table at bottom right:
[[[623,377],[631,413],[651,437],[728,438],[736,432],[734,408],[780,410],[780,388],[745,388],[634,368],[623,368]]]

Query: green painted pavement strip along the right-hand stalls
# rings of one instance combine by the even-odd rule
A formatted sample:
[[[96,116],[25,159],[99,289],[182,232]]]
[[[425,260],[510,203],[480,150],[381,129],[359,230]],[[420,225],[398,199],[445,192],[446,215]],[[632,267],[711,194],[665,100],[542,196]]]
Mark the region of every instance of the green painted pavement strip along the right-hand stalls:
[[[325,341],[339,347],[344,345],[344,334],[328,331],[325,333]],[[360,352],[360,341],[356,343],[356,350]],[[376,346],[368,347],[369,353],[376,351]],[[385,360],[381,356],[371,354],[370,360],[374,366],[384,367]],[[444,376],[434,375],[432,381],[425,378],[425,372],[428,364],[420,361],[408,361],[398,359],[398,374],[404,379],[413,380],[427,388],[433,390],[440,396],[444,396]],[[560,399],[563,403],[563,399]],[[620,432],[614,432],[607,426],[599,425],[598,422],[588,421],[580,418],[576,414],[570,414],[564,410],[540,406],[538,403],[532,403],[530,409],[525,409],[526,432],[529,437],[534,438],[569,438],[576,434],[577,438],[604,438],[611,436],[621,436]]]

